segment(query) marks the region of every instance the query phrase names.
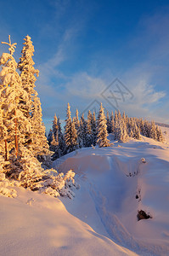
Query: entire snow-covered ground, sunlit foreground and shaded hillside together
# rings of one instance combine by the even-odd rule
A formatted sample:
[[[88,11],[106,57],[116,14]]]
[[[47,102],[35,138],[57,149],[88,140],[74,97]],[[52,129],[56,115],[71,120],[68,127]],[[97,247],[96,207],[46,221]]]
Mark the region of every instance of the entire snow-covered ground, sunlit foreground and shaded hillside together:
[[[169,255],[164,131],[165,143],[142,137],[56,160],[59,171],[77,173],[73,200],[22,188],[14,199],[0,195],[1,255]],[[152,218],[138,221],[138,210]]]

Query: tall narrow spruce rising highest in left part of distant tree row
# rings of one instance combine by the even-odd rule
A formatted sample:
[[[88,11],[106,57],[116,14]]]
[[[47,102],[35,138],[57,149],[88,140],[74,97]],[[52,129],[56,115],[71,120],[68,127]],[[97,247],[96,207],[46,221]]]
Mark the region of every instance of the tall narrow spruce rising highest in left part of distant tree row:
[[[65,119],[65,148],[66,153],[76,150],[78,148],[77,134],[75,122],[71,121],[70,104],[67,104],[67,119]]]

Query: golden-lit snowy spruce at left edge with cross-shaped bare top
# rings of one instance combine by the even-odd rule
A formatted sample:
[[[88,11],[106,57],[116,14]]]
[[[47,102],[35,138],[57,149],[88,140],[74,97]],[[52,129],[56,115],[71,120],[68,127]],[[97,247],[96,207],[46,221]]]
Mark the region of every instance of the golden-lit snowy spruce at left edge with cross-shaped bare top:
[[[0,97],[1,97],[1,125],[3,125],[1,138],[5,160],[8,160],[8,152],[18,157],[20,145],[27,142],[27,135],[31,125],[25,113],[25,102],[28,99],[27,92],[22,88],[19,73],[16,72],[17,63],[14,60],[15,44],[11,44],[8,37],[10,54],[3,53],[0,58],[2,71],[0,73]]]

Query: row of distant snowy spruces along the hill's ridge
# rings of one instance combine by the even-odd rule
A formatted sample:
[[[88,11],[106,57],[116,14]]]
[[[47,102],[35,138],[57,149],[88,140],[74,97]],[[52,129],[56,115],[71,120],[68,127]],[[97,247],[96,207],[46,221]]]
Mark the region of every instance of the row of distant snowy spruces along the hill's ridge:
[[[84,118],[84,114],[79,119],[76,109],[76,116],[71,119],[68,103],[64,131],[62,132],[60,119],[55,114],[53,127],[48,133],[49,148],[54,152],[53,160],[77,148],[87,148],[96,144],[99,147],[108,147],[110,141],[107,137],[110,133],[121,143],[127,142],[130,137],[139,140],[141,135],[159,142],[164,140],[161,128],[155,125],[154,121],[129,118],[125,112],[121,114],[120,110],[115,111],[115,115],[113,111],[111,114],[107,112],[105,116],[102,103],[97,118],[95,112],[91,113],[89,110],[87,119]]]

